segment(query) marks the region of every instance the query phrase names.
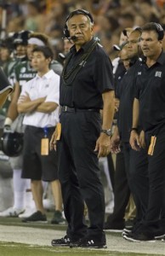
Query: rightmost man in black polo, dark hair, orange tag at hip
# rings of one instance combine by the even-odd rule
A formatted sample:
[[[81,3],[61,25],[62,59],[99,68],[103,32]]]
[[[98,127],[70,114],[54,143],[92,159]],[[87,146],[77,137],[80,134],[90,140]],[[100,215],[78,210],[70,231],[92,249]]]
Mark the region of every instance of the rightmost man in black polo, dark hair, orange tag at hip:
[[[130,237],[131,241],[149,241],[165,234],[165,54],[162,52],[162,26],[147,23],[142,28],[141,49],[145,63],[137,72],[134,98],[133,131],[130,143],[139,150],[141,141],[137,133],[140,123],[145,131],[148,151],[149,202],[141,229]]]

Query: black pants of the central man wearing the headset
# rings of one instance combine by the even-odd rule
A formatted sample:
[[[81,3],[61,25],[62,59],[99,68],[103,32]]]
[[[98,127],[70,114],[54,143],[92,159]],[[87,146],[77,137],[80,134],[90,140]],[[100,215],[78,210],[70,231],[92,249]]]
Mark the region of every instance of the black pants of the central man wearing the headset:
[[[67,234],[77,240],[86,234],[104,236],[105,195],[95,143],[100,136],[100,113],[61,113],[61,139],[58,143],[59,179],[64,202]],[[84,222],[84,201],[90,226]]]

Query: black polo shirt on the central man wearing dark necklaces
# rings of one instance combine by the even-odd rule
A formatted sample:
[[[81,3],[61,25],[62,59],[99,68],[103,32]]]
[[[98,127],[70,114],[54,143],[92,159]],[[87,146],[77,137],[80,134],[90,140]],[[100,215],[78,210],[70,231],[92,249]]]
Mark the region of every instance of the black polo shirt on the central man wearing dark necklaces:
[[[66,74],[70,73],[73,67],[81,66],[81,69],[77,73],[76,68],[67,80],[63,75],[61,76],[61,106],[101,109],[103,108],[102,93],[114,89],[111,61],[99,44],[96,44],[87,61],[81,61],[92,44],[94,44],[94,38],[78,51],[75,45],[71,47],[65,62]],[[76,65],[76,63],[79,64]]]

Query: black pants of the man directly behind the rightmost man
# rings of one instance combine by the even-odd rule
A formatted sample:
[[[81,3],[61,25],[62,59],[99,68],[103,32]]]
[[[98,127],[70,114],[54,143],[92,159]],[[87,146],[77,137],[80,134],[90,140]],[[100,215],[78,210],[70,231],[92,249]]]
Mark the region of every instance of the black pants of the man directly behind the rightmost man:
[[[148,157],[146,149],[133,150],[129,143],[122,143],[128,186],[136,206],[136,220],[141,222],[145,218],[148,205],[149,179]]]

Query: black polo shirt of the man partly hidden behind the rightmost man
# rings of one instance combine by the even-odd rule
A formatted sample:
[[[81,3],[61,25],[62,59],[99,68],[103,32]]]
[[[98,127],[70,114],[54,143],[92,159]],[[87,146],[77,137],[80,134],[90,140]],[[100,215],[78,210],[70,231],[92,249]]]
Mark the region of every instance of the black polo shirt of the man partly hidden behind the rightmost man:
[[[117,127],[121,140],[125,143],[129,142],[130,129],[133,122],[134,84],[139,63],[139,60],[135,61],[134,65],[123,75],[120,82],[120,90],[118,90],[120,105],[117,117]]]

